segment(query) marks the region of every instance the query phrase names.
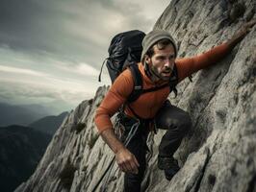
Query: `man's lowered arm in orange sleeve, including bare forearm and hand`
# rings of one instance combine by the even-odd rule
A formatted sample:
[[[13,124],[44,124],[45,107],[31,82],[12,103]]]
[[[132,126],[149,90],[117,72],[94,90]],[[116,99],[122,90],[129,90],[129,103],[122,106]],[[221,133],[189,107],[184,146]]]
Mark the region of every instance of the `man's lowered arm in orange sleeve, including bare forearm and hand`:
[[[95,124],[103,140],[115,153],[115,160],[120,170],[138,173],[139,163],[136,157],[118,140],[110,120],[110,117],[124,104],[126,98],[128,98],[133,90],[134,84],[132,76],[130,74],[131,78],[129,78],[130,76],[127,73],[131,72],[125,71],[124,75],[121,74],[118,76],[103,99],[100,107],[97,108]]]

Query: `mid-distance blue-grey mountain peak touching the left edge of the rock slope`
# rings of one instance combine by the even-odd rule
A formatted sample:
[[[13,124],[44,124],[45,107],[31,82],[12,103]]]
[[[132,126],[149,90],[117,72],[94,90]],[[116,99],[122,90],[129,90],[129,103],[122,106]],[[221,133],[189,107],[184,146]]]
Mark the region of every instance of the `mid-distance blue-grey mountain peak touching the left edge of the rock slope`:
[[[40,132],[46,132],[49,134],[54,134],[57,129],[61,126],[61,124],[64,121],[64,117],[68,114],[68,112],[63,112],[58,116],[46,116],[38,121],[32,123],[29,125],[31,128],[35,128],[36,130]]]

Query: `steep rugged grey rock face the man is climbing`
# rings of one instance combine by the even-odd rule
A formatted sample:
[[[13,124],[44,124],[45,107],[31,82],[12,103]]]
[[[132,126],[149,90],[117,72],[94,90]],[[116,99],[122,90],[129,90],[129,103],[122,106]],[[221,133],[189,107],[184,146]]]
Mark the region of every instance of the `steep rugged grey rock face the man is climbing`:
[[[179,57],[190,57],[232,36],[243,21],[255,17],[255,1],[172,0],[154,28],[176,39]],[[256,191],[256,26],[232,53],[178,85],[169,99],[192,116],[192,132],[175,153],[182,169],[171,181],[156,165],[164,132],[150,135],[153,154],[142,191]],[[15,191],[92,191],[113,154],[93,124],[100,87],[65,118],[35,174]],[[112,169],[107,191],[122,191],[123,174]]]

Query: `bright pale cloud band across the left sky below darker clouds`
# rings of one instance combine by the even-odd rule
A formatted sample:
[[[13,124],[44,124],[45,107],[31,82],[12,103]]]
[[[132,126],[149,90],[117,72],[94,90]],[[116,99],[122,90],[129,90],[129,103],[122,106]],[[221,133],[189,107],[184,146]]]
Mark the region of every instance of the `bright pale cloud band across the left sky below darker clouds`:
[[[93,97],[97,82],[86,80],[89,74],[98,75],[96,69],[86,63],[58,66],[65,66],[66,70],[58,68],[59,74],[55,71],[43,73],[25,67],[0,65],[0,99],[9,101],[8,103],[41,103],[59,99],[77,105],[82,100]],[[77,78],[77,74],[81,74],[81,80]]]

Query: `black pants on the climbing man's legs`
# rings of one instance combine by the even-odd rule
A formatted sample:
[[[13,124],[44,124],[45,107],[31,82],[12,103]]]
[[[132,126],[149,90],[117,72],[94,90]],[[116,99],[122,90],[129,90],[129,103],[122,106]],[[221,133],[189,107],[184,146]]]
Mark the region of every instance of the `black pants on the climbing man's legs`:
[[[170,157],[176,152],[181,144],[182,138],[191,129],[192,121],[188,112],[181,108],[171,106],[166,101],[163,108],[159,110],[155,117],[155,123],[157,129],[167,130],[166,134],[162,137],[159,146],[159,156]],[[125,134],[129,132],[133,124],[133,120],[126,121],[123,125],[126,128]],[[148,132],[146,131],[146,125],[142,124],[134,136],[131,139],[127,149],[136,156],[140,163],[139,174],[126,173],[124,176],[124,191],[125,192],[140,192],[141,181],[146,167],[146,137]]]

